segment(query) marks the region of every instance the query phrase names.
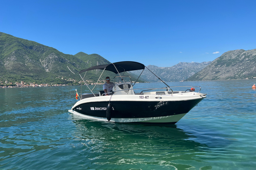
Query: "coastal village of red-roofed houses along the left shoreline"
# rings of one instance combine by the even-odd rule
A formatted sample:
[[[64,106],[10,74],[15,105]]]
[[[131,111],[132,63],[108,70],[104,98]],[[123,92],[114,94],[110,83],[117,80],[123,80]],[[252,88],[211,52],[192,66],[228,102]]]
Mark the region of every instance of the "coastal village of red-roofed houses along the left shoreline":
[[[56,77],[59,79],[64,79],[63,77]],[[68,84],[54,84],[54,83],[42,83],[42,84],[36,84],[31,82],[9,82],[8,80],[1,80],[0,79],[0,89],[1,88],[26,88],[26,87],[57,87],[57,86],[73,86],[73,85],[80,85],[81,80],[75,80],[75,79],[64,79],[67,82],[70,82]],[[93,80],[85,80],[87,85],[95,85],[96,83]],[[82,82],[83,83],[83,82]],[[97,84],[104,84],[105,80],[99,80]],[[85,85],[85,84],[84,84]]]

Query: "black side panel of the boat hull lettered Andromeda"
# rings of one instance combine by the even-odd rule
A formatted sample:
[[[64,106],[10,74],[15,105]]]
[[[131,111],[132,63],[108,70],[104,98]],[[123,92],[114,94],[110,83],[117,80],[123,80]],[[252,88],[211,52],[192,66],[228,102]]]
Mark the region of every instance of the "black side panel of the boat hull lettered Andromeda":
[[[152,102],[111,101],[111,117],[129,119],[179,115],[188,113],[202,99]],[[106,118],[108,103],[108,101],[82,103],[73,110],[87,116]]]

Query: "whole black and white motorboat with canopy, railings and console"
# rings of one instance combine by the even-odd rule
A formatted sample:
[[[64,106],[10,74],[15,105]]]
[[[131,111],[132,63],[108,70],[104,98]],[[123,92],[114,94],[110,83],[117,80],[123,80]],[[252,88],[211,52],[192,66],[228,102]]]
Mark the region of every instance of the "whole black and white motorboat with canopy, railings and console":
[[[160,88],[133,88],[139,80],[142,72],[147,68],[144,64],[134,61],[121,61],[105,65],[96,65],[79,72],[81,80],[89,88],[84,80],[87,71],[105,70],[116,73],[113,91],[80,93],[80,100],[69,110],[74,115],[85,119],[119,123],[152,123],[152,124],[175,124],[185,116],[193,107],[206,98],[206,94],[200,93],[200,86],[168,86],[152,71],[165,87]],[[142,70],[136,81],[131,76],[125,75],[127,71]],[[102,76],[102,73],[100,77]],[[122,73],[122,75],[121,75]],[[84,74],[84,75],[83,75]],[[82,83],[81,83],[82,86]],[[184,88],[183,91],[174,91],[174,88]],[[194,91],[199,88],[199,92]],[[82,89],[82,88],[81,88]],[[106,95],[109,94],[109,95]]]

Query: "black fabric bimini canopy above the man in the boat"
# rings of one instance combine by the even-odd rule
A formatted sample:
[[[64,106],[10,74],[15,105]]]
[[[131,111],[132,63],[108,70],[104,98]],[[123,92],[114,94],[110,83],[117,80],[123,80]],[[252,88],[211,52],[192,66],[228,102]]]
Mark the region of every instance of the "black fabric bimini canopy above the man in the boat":
[[[79,74],[89,70],[96,70],[96,69],[104,70],[104,68],[106,68],[105,70],[112,71],[117,74],[118,72],[121,73],[124,71],[142,70],[142,69],[145,69],[145,65],[139,62],[134,62],[134,61],[121,61],[121,62],[114,62],[111,64],[92,66],[90,68],[79,71]]]

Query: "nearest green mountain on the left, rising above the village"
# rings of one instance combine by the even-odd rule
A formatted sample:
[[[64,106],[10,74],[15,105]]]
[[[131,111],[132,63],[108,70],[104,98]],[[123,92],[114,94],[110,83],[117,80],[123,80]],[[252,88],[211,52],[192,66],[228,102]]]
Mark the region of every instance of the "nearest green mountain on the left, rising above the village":
[[[73,55],[0,32],[1,79],[38,82],[58,76],[77,78],[83,65],[88,64]]]

